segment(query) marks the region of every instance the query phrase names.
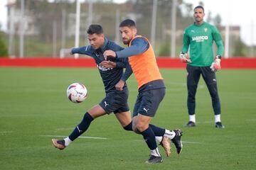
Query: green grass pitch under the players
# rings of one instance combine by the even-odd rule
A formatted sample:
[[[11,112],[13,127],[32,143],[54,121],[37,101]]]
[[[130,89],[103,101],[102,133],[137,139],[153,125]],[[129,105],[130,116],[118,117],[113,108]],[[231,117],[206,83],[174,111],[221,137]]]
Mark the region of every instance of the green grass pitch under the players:
[[[196,128],[187,123],[186,71],[161,69],[166,96],[153,124],[183,130],[183,152],[162,164],[145,164],[149,149],[142,136],[122,130],[113,114],[97,118],[82,137],[63,151],[50,136],[67,136],[83,114],[105,96],[97,69],[0,68],[0,169],[255,169],[256,71],[223,69],[217,73],[224,130],[214,128],[213,109],[201,78],[196,95]],[[82,103],[71,103],[65,91],[82,82],[89,91]],[[134,77],[128,81],[129,106],[137,97]],[[61,139],[62,137],[58,137]]]

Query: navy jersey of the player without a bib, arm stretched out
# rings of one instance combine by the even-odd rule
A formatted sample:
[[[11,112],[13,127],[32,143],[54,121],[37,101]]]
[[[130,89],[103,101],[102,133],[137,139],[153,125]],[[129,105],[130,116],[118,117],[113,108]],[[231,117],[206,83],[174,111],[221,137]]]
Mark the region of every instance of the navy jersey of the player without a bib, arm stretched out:
[[[78,53],[81,55],[88,55],[93,57],[97,68],[100,72],[100,76],[102,77],[103,84],[105,86],[105,92],[108,93],[110,91],[116,91],[115,85],[118,83],[120,79],[126,81],[129,75],[132,74],[132,69],[129,66],[129,62],[127,58],[118,59],[116,68],[103,68],[100,66],[100,62],[105,61],[105,57],[103,56],[103,52],[105,50],[113,50],[114,52],[123,50],[123,47],[120,47],[116,43],[105,38],[104,45],[99,49],[95,50],[91,45],[84,47],[75,47],[72,49],[72,53]],[[123,74],[123,70],[126,68],[126,74]],[[124,88],[127,84],[124,84]]]

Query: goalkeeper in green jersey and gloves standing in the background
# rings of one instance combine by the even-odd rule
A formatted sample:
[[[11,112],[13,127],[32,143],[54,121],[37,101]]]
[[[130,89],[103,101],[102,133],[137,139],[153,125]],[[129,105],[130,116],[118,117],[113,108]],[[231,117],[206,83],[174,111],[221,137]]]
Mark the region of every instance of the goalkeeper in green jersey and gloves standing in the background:
[[[196,126],[196,89],[202,74],[212,99],[215,114],[215,127],[224,128],[220,121],[220,98],[218,96],[215,72],[220,69],[220,60],[223,55],[223,42],[218,29],[203,21],[205,16],[203,6],[194,8],[195,23],[188,26],[183,34],[183,47],[180,54],[182,62],[186,62],[188,88],[188,115],[187,127]],[[218,47],[217,55],[213,57],[213,41]],[[190,47],[190,57],[187,57]]]

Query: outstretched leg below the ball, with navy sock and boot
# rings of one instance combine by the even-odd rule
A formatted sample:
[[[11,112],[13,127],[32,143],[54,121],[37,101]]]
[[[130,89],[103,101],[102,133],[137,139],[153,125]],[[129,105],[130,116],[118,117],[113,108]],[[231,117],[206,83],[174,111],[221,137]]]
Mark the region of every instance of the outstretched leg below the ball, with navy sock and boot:
[[[66,137],[63,140],[53,139],[53,146],[58,149],[64,149],[76,138],[82,135],[82,133],[84,133],[87,130],[87,128],[89,128],[92,120],[105,114],[105,110],[100,105],[92,107],[89,111],[87,111],[87,113],[85,113],[80,124],[73,130],[73,132],[68,137]]]

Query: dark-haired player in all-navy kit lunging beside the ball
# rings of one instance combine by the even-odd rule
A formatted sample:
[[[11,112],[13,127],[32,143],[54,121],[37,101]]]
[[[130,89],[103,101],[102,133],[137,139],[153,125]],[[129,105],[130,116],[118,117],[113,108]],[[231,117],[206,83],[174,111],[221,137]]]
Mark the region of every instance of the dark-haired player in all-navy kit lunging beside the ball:
[[[93,57],[100,72],[100,76],[102,77],[106,96],[99,104],[93,106],[87,111],[87,113],[85,113],[81,123],[68,137],[63,140],[52,140],[53,146],[58,149],[64,149],[70,144],[70,142],[82,135],[82,133],[89,128],[92,120],[112,112],[114,112],[114,115],[117,117],[117,120],[119,120],[119,123],[121,123],[124,130],[132,131],[132,118],[127,103],[127,84],[124,83],[124,86],[121,88],[118,87],[120,79],[124,82],[127,79],[126,73],[123,74],[123,68],[126,68],[125,72],[129,72],[129,70],[131,70],[129,63],[125,59],[120,59],[116,62],[105,61],[105,57],[103,56],[103,52],[105,50],[119,51],[122,50],[123,47],[120,47],[105,38],[102,26],[100,25],[91,25],[87,30],[87,34],[90,45],[85,47],[75,47],[70,50],[70,53],[78,53]]]

